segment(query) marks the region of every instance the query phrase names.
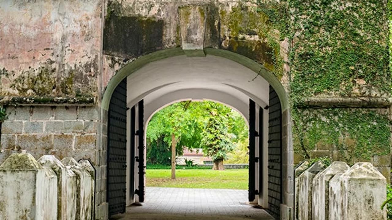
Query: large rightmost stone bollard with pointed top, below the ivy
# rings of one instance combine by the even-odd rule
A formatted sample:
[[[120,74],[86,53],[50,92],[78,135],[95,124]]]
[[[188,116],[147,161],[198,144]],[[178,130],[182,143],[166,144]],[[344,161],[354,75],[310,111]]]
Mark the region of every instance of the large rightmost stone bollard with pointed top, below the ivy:
[[[354,164],[350,170],[340,175],[340,191],[332,188],[334,194],[340,192],[339,220],[386,220],[387,213],[381,204],[387,199],[387,180],[369,162]],[[337,180],[334,180],[337,181]]]

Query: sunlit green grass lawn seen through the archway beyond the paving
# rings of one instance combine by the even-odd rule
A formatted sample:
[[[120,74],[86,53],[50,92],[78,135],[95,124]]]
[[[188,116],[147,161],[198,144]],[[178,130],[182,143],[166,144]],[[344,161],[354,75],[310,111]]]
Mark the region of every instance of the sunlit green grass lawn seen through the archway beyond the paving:
[[[233,170],[146,170],[147,186],[205,189],[248,189],[248,169]]]

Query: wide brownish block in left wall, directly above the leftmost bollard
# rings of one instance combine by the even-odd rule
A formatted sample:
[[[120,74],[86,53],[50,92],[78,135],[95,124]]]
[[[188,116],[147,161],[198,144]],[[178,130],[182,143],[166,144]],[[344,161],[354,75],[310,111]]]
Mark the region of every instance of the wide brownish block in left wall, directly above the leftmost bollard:
[[[45,135],[45,134],[16,135],[16,148],[53,149],[52,135]]]

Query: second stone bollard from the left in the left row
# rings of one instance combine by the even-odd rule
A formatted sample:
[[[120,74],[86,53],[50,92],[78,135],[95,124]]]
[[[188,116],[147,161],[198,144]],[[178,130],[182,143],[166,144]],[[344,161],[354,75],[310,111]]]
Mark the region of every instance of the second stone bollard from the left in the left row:
[[[76,174],[54,155],[44,155],[38,162],[51,168],[57,176],[57,220],[76,218]]]

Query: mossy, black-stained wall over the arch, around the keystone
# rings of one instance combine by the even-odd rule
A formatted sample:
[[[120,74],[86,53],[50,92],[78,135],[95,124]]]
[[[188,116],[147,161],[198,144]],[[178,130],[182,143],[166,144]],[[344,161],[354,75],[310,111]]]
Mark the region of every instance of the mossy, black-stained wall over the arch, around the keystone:
[[[204,47],[231,50],[263,64],[289,90],[287,4],[240,0],[202,3],[196,0],[109,0],[105,13],[104,54],[110,56],[103,58],[103,88],[107,85],[105,79],[116,72],[108,65],[113,56],[128,62],[156,50],[180,47],[178,8],[189,4],[203,4],[207,8],[207,13],[203,13],[206,16]]]

